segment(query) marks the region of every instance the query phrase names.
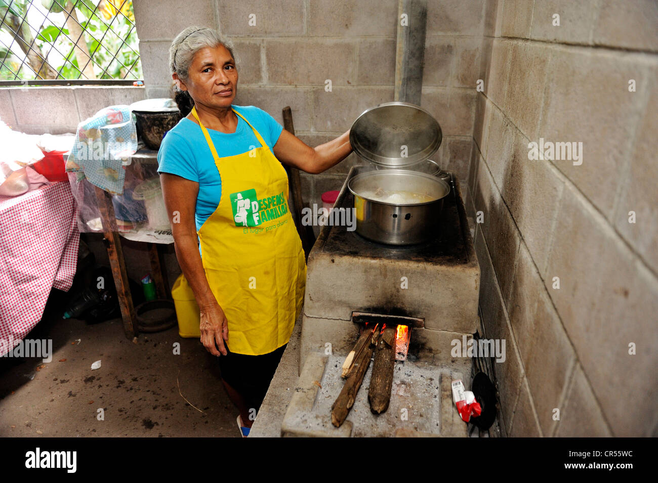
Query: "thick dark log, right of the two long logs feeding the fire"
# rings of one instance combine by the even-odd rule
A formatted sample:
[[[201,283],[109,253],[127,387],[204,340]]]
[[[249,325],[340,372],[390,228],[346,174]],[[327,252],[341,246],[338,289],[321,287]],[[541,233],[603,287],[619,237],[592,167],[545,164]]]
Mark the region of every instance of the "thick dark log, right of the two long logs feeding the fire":
[[[396,327],[386,327],[374,350],[372,377],[368,388],[370,411],[381,414],[388,409],[393,386],[393,369],[395,369],[395,333]]]

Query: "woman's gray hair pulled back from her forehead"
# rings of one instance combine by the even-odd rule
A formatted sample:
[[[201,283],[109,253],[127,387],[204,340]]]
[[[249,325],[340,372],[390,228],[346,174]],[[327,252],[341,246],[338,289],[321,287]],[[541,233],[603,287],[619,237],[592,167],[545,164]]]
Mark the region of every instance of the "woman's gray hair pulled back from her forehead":
[[[169,47],[169,70],[173,74],[176,72],[182,81],[188,79],[188,70],[192,58],[197,51],[204,47],[216,47],[223,45],[238,63],[235,47],[230,39],[224,37],[213,28],[207,27],[188,27],[176,38]]]

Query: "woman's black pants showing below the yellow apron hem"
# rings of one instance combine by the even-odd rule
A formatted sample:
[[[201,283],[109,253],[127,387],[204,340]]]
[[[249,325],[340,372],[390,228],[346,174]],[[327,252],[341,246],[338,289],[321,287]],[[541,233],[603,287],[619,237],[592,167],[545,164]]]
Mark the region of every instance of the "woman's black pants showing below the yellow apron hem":
[[[260,409],[286,346],[262,356],[245,356],[231,352],[226,345],[226,356],[218,357],[222,379],[245,399],[247,411]]]

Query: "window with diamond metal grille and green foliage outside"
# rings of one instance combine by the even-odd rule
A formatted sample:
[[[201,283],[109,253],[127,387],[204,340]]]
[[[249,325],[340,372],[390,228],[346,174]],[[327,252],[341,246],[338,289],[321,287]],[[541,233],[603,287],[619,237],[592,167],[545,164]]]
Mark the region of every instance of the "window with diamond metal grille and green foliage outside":
[[[0,85],[141,80],[130,0],[0,0]]]

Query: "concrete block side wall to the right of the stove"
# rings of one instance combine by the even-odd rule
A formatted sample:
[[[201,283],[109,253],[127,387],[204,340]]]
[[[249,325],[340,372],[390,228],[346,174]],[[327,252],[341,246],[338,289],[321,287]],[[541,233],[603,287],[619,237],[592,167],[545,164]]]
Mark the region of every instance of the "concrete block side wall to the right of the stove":
[[[484,16],[467,210],[484,217],[484,329],[507,340],[503,432],[655,436],[658,3],[487,0]],[[530,160],[540,138],[582,142],[582,164]]]

